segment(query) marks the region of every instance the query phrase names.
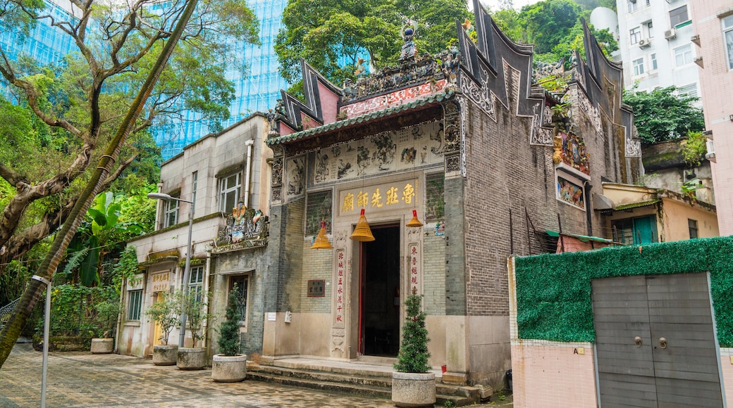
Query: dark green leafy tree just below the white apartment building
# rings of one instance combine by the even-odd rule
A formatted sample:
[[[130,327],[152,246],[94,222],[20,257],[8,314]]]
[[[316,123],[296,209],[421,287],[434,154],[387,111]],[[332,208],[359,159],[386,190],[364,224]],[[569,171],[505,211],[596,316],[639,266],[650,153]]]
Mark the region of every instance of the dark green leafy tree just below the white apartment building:
[[[685,137],[705,128],[702,110],[692,104],[698,98],[678,95],[668,86],[654,91],[624,91],[624,103],[633,107],[634,124],[641,143],[646,145]]]

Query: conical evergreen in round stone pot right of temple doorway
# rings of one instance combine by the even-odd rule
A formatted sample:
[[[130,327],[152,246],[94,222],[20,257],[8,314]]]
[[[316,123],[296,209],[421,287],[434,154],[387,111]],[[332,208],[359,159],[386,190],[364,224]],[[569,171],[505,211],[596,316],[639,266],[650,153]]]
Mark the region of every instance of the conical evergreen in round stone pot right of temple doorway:
[[[435,373],[427,359],[427,328],[421,310],[422,295],[416,290],[405,301],[407,314],[402,325],[402,343],[392,372],[392,402],[397,407],[432,407],[435,404]]]

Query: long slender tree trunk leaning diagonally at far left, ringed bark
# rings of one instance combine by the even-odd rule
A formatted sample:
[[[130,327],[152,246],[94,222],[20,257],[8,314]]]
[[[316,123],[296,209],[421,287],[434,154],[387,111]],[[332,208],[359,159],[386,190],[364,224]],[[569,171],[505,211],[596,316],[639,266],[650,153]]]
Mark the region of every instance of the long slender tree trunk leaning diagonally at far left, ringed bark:
[[[128,114],[125,116],[125,120],[122,121],[122,124],[117,130],[117,134],[114,135],[114,139],[111,140],[104,156],[100,159],[97,169],[92,174],[92,178],[84,188],[84,192],[82,192],[78,197],[78,200],[61,231],[56,234],[54,243],[51,244],[51,250],[48,252],[48,255],[45,257],[45,260],[43,260],[43,263],[39,268],[39,276],[49,280],[52,279],[54,270],[56,269],[56,266],[59,265],[59,262],[61,262],[71,238],[73,238],[79,224],[81,224],[81,220],[84,218],[84,214],[86,214],[86,211],[92,205],[94,197],[99,193],[106,176],[110,172],[110,167],[114,164],[114,160],[117,159],[122,143],[125,142],[125,137],[127,137],[133,130],[135,121],[140,115],[145,101],[150,96],[152,88],[155,86],[155,82],[158,80],[166,62],[173,53],[175,45],[183,33],[183,29],[185,28],[186,23],[188,23],[188,19],[191,18],[191,15],[196,9],[197,1],[198,0],[190,0],[188,1],[188,4],[186,4],[185,11],[181,15],[180,20],[178,20],[171,37],[163,47],[161,56],[159,56],[158,61],[155,62],[155,66],[150,72],[150,75],[148,75],[147,80],[145,80],[145,83],[140,89],[135,101],[130,106]],[[101,83],[98,83],[96,86],[100,89],[101,85]],[[98,110],[96,113],[98,113]],[[92,116],[94,115],[95,112],[92,112]],[[18,340],[18,336],[21,335],[21,330],[38,303],[38,299],[43,293],[43,289],[41,282],[32,279],[29,287],[25,292],[23,292],[23,296],[21,297],[21,301],[18,303],[18,306],[12,312],[7,325],[5,325],[3,330],[0,331],[0,367],[5,363],[8,355],[10,355],[10,350],[12,350],[12,347],[15,345],[15,341]]]

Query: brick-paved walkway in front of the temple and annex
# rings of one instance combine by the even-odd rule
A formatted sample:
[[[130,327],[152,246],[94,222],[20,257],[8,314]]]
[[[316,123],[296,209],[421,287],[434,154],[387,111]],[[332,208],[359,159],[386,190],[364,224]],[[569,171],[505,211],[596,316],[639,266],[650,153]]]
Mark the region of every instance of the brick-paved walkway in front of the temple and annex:
[[[40,407],[43,354],[16,344],[0,369],[0,407]],[[394,407],[379,398],[257,381],[218,383],[211,370],[181,371],[151,360],[51,352],[47,407]]]

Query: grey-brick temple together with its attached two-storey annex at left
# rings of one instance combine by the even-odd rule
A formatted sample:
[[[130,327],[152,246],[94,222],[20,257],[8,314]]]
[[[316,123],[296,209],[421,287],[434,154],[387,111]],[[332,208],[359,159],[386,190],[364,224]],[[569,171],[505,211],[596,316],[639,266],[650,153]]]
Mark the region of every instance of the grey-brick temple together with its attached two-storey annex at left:
[[[643,171],[621,67],[586,27],[584,57],[539,67],[569,84],[547,91],[532,46],[474,10],[470,33],[456,23],[458,47],[426,55],[407,23],[397,67],[360,67],[341,87],[303,61],[305,102],[283,92],[266,119],[163,165],[161,192],[196,205],[188,285],[215,317],[237,285],[249,360],[389,362],[416,293],[441,381],[501,388],[508,257],[613,243],[603,183]],[[161,203],[161,229],[130,242],[144,279],[126,288],[121,352],[150,352],[144,311],[181,286],[188,220],[177,211]]]

